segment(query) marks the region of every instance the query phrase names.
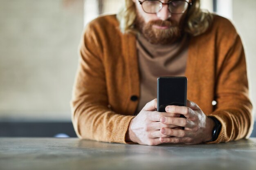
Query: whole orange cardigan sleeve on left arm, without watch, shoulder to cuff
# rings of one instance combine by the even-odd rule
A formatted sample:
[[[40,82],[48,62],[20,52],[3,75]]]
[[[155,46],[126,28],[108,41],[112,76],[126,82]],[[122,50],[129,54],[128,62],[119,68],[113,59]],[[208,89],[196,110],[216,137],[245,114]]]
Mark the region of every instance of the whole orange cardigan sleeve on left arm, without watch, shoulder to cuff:
[[[100,32],[88,25],[81,40],[79,66],[71,101],[72,122],[81,139],[126,143],[125,135],[134,116],[121,115],[108,107]]]

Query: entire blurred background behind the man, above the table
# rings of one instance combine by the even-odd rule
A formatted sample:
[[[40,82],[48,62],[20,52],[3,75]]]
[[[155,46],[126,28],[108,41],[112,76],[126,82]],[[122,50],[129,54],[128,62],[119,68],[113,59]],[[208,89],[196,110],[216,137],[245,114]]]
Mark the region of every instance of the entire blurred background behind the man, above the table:
[[[83,28],[100,14],[116,13],[121,3],[0,0],[0,136],[76,137],[70,99]],[[236,26],[255,104],[256,1],[201,0],[201,8]]]

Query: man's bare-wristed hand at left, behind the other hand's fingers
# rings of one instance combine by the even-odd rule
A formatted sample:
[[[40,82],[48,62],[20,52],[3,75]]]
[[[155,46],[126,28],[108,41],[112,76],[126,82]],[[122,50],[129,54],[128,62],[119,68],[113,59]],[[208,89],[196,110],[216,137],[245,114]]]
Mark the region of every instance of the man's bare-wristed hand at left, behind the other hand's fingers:
[[[139,114],[132,119],[128,132],[126,133],[126,141],[132,141],[141,145],[159,145],[162,144],[160,137],[170,137],[160,132],[161,128],[179,128],[174,125],[165,125],[160,122],[160,118],[180,117],[179,114],[157,112],[157,99],[148,102]]]

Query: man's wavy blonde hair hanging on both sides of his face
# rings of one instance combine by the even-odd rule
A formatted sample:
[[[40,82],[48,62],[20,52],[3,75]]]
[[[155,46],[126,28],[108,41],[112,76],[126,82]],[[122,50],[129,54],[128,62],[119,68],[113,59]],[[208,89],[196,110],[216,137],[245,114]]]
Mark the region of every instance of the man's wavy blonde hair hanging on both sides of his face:
[[[192,36],[197,36],[210,27],[213,15],[209,11],[200,9],[200,0],[191,0],[192,5],[186,13],[184,31]],[[117,13],[120,30],[122,33],[136,33],[134,23],[136,20],[136,6],[132,0],[124,0],[123,7]]]

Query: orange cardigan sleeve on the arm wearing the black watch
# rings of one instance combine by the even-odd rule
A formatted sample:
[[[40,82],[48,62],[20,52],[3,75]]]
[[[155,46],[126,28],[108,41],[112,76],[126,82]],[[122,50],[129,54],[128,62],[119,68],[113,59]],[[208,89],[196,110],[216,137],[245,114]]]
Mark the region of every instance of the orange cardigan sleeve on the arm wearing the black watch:
[[[218,139],[208,143],[248,138],[252,132],[252,103],[249,100],[245,53],[240,36],[234,29],[233,32],[227,33],[217,44],[217,105],[209,116],[216,117],[222,129]]]

